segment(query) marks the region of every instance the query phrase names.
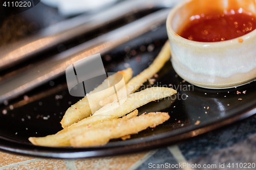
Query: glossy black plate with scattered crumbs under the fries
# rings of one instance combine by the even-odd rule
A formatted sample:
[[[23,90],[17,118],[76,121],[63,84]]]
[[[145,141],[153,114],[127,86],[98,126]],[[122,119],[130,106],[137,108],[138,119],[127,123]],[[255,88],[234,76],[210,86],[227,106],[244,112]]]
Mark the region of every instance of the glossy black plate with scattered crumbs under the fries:
[[[101,54],[104,66],[108,72],[116,72],[130,66],[136,76],[154,60],[166,40],[163,25],[108,54]],[[36,147],[28,138],[46,136],[61,130],[59,122],[63,114],[70,105],[80,99],[68,93],[66,77],[61,76],[0,106],[1,112],[7,111],[6,114],[0,114],[0,149],[16,154],[51,158],[133,153],[164,147],[236,122],[256,112],[255,82],[231,89],[204,89],[184,82],[174,71],[172,63],[167,62],[158,73],[155,85],[172,86],[178,91],[173,99],[151,102],[138,109],[139,114],[152,111],[169,113],[169,120],[155,129],[148,128],[125,141],[111,140],[104,147]],[[146,82],[144,86],[150,84]],[[237,94],[237,91],[241,93]]]

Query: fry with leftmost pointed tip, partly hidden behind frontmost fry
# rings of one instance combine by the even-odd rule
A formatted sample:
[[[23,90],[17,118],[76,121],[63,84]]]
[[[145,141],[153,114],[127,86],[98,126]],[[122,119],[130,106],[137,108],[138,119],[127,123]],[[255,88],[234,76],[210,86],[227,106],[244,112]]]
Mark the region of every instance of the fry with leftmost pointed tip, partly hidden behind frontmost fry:
[[[63,129],[54,135],[48,135],[46,137],[30,137],[29,141],[34,145],[40,145],[44,147],[68,147],[70,146],[70,139],[73,136],[83,134],[91,129],[102,129],[106,126],[114,126],[123,121],[136,117],[138,115],[138,110],[134,110],[130,114],[123,116],[122,118],[115,118],[111,120],[104,120],[100,122],[95,122],[95,124],[77,126],[72,129]]]

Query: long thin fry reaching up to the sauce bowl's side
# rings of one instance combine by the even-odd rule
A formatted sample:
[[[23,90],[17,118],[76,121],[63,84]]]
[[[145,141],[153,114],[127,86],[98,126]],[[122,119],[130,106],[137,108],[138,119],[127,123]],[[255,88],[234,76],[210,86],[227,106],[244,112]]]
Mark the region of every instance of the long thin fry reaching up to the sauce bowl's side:
[[[163,66],[164,64],[170,59],[170,45],[169,42],[166,41],[164,44],[161,52],[158,54],[156,59],[153,63],[146,69],[144,69],[139,75],[132,78],[125,87],[121,88],[118,93],[118,98],[123,97],[125,94],[129,95],[140,88],[140,86],[147,80],[154,76]],[[105,98],[104,100],[100,101],[100,105],[104,106],[106,104],[112,103],[116,101],[116,94]]]

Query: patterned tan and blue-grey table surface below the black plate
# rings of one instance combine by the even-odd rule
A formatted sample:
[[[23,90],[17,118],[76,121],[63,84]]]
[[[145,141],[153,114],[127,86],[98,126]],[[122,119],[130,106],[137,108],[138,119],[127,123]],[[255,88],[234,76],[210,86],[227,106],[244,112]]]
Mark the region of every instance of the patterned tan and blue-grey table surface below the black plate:
[[[183,167],[178,165],[184,164]],[[230,164],[229,164],[230,163]],[[233,163],[233,167],[232,167]],[[238,163],[238,164],[237,164]],[[240,163],[256,164],[256,116],[167,148],[105,158],[54,160],[0,152],[1,169],[243,169]],[[162,168],[161,168],[162,164]],[[220,167],[220,164],[222,167]],[[223,168],[224,164],[224,168]],[[228,164],[230,167],[228,167]],[[172,168],[176,165],[176,167]],[[189,166],[190,165],[190,166]],[[216,165],[216,167],[214,167]],[[193,168],[194,166],[194,168]],[[237,168],[238,166],[238,168]],[[245,164],[243,164],[243,167]],[[251,164],[251,167],[253,164]],[[152,168],[150,168],[152,167]],[[156,168],[154,168],[156,167]],[[255,169],[255,168],[251,168]]]

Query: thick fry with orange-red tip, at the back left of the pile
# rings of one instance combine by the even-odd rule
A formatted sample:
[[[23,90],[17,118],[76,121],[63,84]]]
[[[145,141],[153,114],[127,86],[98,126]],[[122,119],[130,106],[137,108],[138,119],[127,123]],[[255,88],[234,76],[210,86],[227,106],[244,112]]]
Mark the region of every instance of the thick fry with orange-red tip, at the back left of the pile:
[[[124,79],[125,83],[127,83],[133,76],[133,71],[131,68],[127,68],[125,70],[118,71],[118,72],[123,75],[123,79]],[[94,96],[95,100],[93,101],[94,110],[98,110],[99,108],[101,108],[101,106],[99,105],[99,101],[101,101],[115,93],[114,89],[104,90],[104,88],[106,86],[115,85],[116,90],[122,88],[123,84],[118,83],[117,82],[118,80],[119,79],[117,79],[117,74],[109,76],[109,78],[105,79],[101,85],[99,85],[92,92],[90,92],[90,93],[96,93],[96,96]],[[102,90],[104,90],[104,92],[98,93],[98,95],[97,95],[97,92],[100,92]],[[63,116],[63,118],[61,120],[61,126],[62,126],[62,128],[66,128],[66,127],[72,125],[73,123],[76,123],[79,120],[90,116],[91,114],[93,114],[93,113],[91,112],[91,108],[90,108],[89,101],[88,101],[88,96],[85,96],[83,99],[81,99],[79,102],[77,102],[76,104],[71,106],[66,111],[65,115]]]

